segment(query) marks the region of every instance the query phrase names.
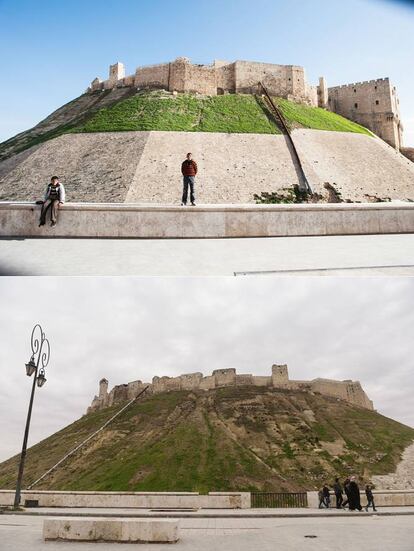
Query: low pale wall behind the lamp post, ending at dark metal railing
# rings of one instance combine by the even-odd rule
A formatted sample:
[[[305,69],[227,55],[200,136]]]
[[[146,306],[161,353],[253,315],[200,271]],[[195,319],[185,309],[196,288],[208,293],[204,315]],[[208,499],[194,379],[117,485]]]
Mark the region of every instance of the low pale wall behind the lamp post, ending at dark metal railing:
[[[249,492],[22,492],[21,503],[38,501],[39,507],[108,507],[142,509],[248,509]],[[13,505],[14,491],[0,490],[0,505]]]

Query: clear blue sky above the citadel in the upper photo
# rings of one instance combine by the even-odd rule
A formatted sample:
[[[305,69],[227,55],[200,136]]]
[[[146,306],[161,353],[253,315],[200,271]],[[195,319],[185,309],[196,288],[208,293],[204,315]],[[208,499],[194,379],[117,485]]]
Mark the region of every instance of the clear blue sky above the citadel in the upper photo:
[[[80,95],[115,61],[177,56],[305,67],[316,84],[388,76],[414,146],[414,5],[391,0],[0,0],[0,141]]]

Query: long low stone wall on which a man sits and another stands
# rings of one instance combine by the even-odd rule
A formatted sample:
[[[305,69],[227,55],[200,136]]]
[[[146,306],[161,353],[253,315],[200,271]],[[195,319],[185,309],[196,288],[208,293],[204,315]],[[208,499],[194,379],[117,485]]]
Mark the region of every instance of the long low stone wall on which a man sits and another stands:
[[[55,228],[40,207],[0,203],[3,237],[217,238],[414,233],[414,204],[207,205],[67,203]]]

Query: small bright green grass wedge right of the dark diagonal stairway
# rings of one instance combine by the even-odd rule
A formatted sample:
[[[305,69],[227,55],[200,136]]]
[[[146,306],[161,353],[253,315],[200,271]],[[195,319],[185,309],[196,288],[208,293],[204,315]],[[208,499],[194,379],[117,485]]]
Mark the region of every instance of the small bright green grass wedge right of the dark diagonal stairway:
[[[313,128],[315,130],[331,130],[335,132],[356,132],[371,135],[365,127],[352,122],[337,113],[326,111],[320,107],[310,107],[283,98],[275,98],[287,123],[293,128]]]

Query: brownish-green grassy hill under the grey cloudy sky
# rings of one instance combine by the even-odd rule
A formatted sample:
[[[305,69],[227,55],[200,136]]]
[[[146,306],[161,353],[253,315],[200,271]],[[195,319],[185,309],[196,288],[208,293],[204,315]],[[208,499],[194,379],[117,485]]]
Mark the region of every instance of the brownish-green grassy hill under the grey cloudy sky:
[[[119,408],[85,415],[30,448],[27,485]],[[335,475],[395,469],[414,429],[307,392],[222,388],[149,396],[60,467],[39,489],[298,490]],[[0,464],[15,483],[17,457]]]

